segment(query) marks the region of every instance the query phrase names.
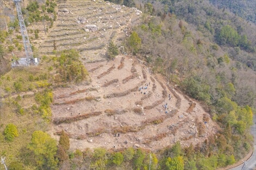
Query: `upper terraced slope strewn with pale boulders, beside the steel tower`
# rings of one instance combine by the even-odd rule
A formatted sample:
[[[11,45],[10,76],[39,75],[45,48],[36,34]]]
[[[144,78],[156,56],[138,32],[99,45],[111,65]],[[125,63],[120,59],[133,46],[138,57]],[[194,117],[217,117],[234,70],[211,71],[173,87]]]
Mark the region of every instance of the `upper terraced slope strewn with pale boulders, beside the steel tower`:
[[[120,45],[141,15],[135,8],[104,1],[57,1],[57,7],[57,21],[41,41],[40,52],[51,54],[55,43],[57,52],[76,48],[84,60],[102,59],[110,40]]]

